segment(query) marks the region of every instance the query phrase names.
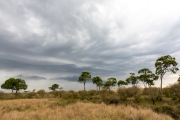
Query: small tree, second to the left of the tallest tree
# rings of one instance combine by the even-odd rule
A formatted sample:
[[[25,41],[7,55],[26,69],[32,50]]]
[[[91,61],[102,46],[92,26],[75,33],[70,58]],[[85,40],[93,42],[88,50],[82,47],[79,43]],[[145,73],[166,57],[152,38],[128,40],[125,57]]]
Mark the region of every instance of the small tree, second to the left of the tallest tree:
[[[130,73],[130,75],[131,76],[126,79],[126,82],[131,83],[132,86],[137,86],[137,84],[139,82],[139,77],[135,76],[135,73]]]

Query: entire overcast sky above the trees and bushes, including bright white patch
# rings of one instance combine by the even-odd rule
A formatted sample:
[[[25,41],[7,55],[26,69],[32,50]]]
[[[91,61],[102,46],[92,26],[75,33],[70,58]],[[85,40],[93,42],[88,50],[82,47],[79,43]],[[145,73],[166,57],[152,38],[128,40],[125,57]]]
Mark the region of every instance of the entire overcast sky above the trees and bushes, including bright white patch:
[[[125,80],[171,55],[180,63],[179,0],[0,0],[0,85],[81,90],[82,71]],[[180,65],[178,64],[180,68]],[[163,86],[178,74],[166,74]],[[156,86],[160,86],[156,82]],[[87,89],[95,89],[87,83]]]

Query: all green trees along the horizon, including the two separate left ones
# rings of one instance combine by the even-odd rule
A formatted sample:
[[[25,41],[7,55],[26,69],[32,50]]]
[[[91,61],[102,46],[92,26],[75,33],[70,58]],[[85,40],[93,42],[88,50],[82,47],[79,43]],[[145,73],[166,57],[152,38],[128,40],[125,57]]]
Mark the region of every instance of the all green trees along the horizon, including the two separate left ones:
[[[106,88],[110,91],[110,89],[116,85],[119,87],[124,86],[124,85],[129,85],[131,84],[132,86],[137,86],[139,82],[142,82],[144,85],[144,88],[150,88],[151,86],[154,85],[154,81],[158,80],[160,78],[161,80],[161,86],[159,89],[159,95],[160,98],[162,98],[162,80],[164,75],[167,72],[172,72],[176,73],[179,69],[177,68],[177,62],[174,57],[171,57],[170,55],[165,55],[159,57],[156,62],[155,62],[155,68],[156,71],[153,73],[151,70],[148,68],[142,68],[138,71],[138,76],[135,75],[135,73],[130,73],[130,76],[126,78],[126,80],[118,80],[114,77],[110,77],[107,79],[106,82],[103,82],[101,77],[95,76],[91,77],[90,72],[82,72],[81,75],[79,76],[78,82],[83,83],[84,85],[84,91],[86,82],[89,80],[92,80],[93,84],[96,84],[97,91],[100,91],[100,88]],[[16,93],[19,90],[26,90],[28,85],[26,84],[25,80],[21,78],[9,78],[6,80],[2,85],[2,89],[7,89],[7,90],[12,90],[16,91]],[[51,87],[49,87],[49,90],[57,90],[60,89],[62,90],[62,87],[59,87],[58,84],[53,84]]]

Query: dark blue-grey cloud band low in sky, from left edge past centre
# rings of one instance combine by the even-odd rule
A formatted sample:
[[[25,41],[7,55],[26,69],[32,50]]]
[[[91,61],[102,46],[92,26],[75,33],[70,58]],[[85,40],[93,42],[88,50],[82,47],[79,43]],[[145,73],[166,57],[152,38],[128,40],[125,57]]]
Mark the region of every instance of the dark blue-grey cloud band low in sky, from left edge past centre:
[[[0,59],[0,69],[7,70],[7,71],[34,71],[40,73],[52,73],[52,74],[72,74],[78,75],[82,71],[90,71],[93,74],[107,74],[110,71],[109,69],[102,69],[102,68],[94,68],[94,67],[78,67],[74,64],[63,64],[63,65],[37,65],[37,64],[28,64],[23,62],[17,62],[12,60],[4,60]]]

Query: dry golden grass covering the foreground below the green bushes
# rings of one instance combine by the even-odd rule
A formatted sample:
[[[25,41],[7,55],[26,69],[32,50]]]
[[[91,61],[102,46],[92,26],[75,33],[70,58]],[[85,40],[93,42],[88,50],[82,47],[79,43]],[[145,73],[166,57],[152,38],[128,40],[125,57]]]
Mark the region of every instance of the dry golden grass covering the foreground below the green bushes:
[[[1,120],[172,120],[150,109],[124,105],[75,103],[58,106],[57,99],[0,101]]]

